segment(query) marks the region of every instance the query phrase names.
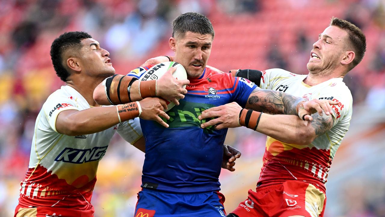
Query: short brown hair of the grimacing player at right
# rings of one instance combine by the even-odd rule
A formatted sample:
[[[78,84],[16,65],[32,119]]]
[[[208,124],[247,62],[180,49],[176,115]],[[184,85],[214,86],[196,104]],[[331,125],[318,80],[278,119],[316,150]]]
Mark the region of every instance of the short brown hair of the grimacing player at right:
[[[356,25],[349,21],[341,20],[336,17],[331,18],[330,25],[339,27],[348,33],[348,46],[351,47],[356,54],[352,63],[350,63],[349,71],[352,70],[358,63],[361,62],[366,51],[366,37],[365,34]]]

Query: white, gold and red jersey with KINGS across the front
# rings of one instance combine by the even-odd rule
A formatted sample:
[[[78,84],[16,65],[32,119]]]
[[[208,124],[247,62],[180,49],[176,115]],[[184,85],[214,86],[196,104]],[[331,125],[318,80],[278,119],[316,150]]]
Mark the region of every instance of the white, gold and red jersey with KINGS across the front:
[[[93,209],[90,201],[100,159],[118,132],[127,142],[142,137],[139,120],[129,120],[105,131],[66,136],[56,130],[64,110],[90,108],[70,86],[62,86],[44,103],[35,123],[28,171],[20,183],[19,204],[25,207]]]

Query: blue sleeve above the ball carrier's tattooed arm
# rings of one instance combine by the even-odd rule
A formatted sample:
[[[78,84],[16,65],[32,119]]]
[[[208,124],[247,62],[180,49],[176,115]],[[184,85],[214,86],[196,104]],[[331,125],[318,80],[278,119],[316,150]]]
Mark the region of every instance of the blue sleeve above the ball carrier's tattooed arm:
[[[233,102],[238,103],[241,107],[244,108],[251,92],[257,88],[257,85],[247,80],[246,78],[232,77],[231,74],[229,75],[234,82]]]

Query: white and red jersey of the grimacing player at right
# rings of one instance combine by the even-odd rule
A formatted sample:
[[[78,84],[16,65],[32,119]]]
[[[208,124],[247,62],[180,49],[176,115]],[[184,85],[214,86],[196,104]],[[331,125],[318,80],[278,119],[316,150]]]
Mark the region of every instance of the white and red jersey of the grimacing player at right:
[[[259,183],[303,180],[325,188],[331,161],[350,125],[352,94],[342,78],[309,86],[303,83],[305,77],[282,69],[270,69],[262,72],[260,87],[306,100],[327,99],[338,102],[338,105],[331,105],[333,127],[306,146],[286,144],[268,136]]]

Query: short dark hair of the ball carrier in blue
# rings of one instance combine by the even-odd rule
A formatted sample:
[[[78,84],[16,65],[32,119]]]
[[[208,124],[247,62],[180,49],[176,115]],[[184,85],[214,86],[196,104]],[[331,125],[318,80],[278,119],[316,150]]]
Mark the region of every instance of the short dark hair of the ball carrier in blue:
[[[184,36],[186,32],[210,34],[214,39],[214,28],[210,20],[203,14],[188,12],[179,15],[172,21],[172,37],[177,34]]]

